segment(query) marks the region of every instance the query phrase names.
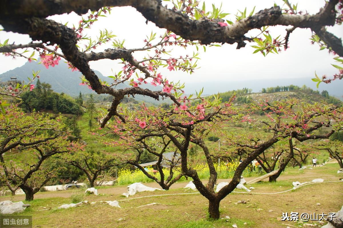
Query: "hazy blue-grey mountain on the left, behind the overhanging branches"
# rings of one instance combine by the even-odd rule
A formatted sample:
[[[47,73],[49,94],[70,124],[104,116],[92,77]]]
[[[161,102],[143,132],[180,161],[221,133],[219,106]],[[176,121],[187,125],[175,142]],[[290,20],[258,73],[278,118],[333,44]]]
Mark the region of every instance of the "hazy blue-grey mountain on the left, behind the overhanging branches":
[[[38,61],[39,62],[39,61]],[[51,89],[57,93],[65,93],[70,96],[78,96],[79,93],[83,94],[96,94],[93,90],[88,89],[87,86],[80,85],[82,73],[79,71],[72,72],[71,69],[68,69],[68,65],[63,61],[60,61],[55,67],[49,67],[46,69],[43,64],[38,64],[38,62],[27,62],[21,67],[17,67],[13,70],[9,70],[0,75],[0,81],[8,81],[10,77],[16,77],[19,81],[28,81],[27,77],[32,78],[32,70],[38,71],[41,82],[46,82],[51,85]],[[99,79],[107,82],[111,82],[112,79],[104,77],[99,71],[94,70]],[[36,82],[34,82],[35,84]],[[121,83],[116,86],[116,89],[123,89],[129,87],[128,83]],[[151,84],[143,84],[141,86],[143,89],[151,90],[162,90],[161,86],[152,86]],[[165,101],[155,101],[151,97],[146,97],[142,95],[136,95],[135,99],[148,102],[148,103],[163,103]]]

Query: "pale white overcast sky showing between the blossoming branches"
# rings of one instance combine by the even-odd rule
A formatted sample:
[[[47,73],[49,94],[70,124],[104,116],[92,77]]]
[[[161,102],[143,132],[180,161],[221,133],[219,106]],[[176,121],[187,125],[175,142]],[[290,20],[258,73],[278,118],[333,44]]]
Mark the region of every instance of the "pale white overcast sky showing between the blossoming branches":
[[[282,0],[275,0],[277,4],[283,4]],[[220,5],[221,1],[206,0],[207,9],[210,9],[211,3]],[[292,2],[296,3],[296,2]],[[226,18],[235,21],[235,14],[237,10],[243,11],[247,7],[247,12],[250,12],[254,5],[256,5],[255,12],[270,8],[273,6],[273,0],[241,0],[241,1],[223,1],[222,9],[226,13],[231,13]],[[298,10],[307,11],[310,14],[317,13],[319,8],[325,4],[324,0],[299,0]],[[69,26],[72,24],[78,24],[80,16],[75,13],[55,15],[49,17],[57,22],[63,24],[69,22]],[[126,48],[140,48],[144,46],[143,40],[146,35],[150,35],[151,31],[157,32],[157,34],[163,34],[164,29],[159,29],[154,23],[145,23],[146,19],[132,7],[116,7],[111,11],[110,16],[100,18],[96,22],[92,30],[88,29],[86,32],[91,36],[96,36],[99,29],[112,30],[117,39],[125,39]],[[285,26],[278,26],[277,28],[271,28],[271,35],[273,38],[281,35],[285,36]],[[329,28],[329,31],[333,32],[336,36],[343,36],[342,26],[335,26]],[[256,31],[252,31],[251,34],[256,34]],[[250,33],[249,33],[250,34]],[[207,48],[204,53],[202,49],[200,51],[201,60],[198,61],[196,72],[192,75],[188,75],[185,72],[169,72],[166,69],[161,70],[164,76],[170,80],[182,82],[206,82],[206,81],[239,81],[247,79],[271,79],[271,78],[304,78],[313,77],[315,71],[319,76],[327,74],[328,76],[334,74],[336,69],[331,66],[333,61],[333,55],[328,54],[326,50],[319,51],[318,45],[311,45],[310,29],[296,29],[289,38],[289,49],[286,52],[277,54],[268,54],[267,57],[263,57],[262,54],[252,54],[255,50],[250,47],[253,44],[247,44],[245,48],[236,50],[236,44],[228,45],[224,44],[222,47]],[[10,38],[9,43],[27,43],[31,39],[28,35],[20,35],[12,32],[0,31],[0,41]],[[110,44],[101,46],[104,50],[109,48]],[[195,49],[195,48],[194,48]],[[185,53],[192,54],[194,50],[192,48],[184,50],[175,49],[174,56],[184,55]],[[142,57],[141,53],[135,53],[134,56],[139,59]],[[26,62],[25,59],[17,58],[12,60],[11,57],[0,56],[0,73],[14,69],[21,66]],[[103,73],[104,76],[113,75],[111,69],[118,72],[121,70],[122,64],[118,64],[118,61],[101,60],[96,62],[90,62],[90,66]],[[311,83],[311,81],[309,81]]]

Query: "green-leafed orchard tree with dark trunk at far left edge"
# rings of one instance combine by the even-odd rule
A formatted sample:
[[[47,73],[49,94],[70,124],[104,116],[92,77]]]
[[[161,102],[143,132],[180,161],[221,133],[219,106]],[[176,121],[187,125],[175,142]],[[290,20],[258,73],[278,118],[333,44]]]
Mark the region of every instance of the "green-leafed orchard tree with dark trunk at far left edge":
[[[43,168],[44,161],[81,147],[67,140],[63,117],[51,120],[49,116],[35,113],[27,115],[16,106],[6,111],[10,113],[8,121],[4,117],[0,119],[0,177],[12,194],[21,188],[26,200],[33,200],[33,195],[55,173]],[[13,157],[15,152],[21,159]]]

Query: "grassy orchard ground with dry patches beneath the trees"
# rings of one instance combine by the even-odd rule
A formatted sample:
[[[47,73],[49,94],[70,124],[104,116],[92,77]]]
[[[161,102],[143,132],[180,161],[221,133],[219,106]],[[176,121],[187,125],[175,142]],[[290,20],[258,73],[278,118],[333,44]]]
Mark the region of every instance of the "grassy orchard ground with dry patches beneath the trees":
[[[275,183],[263,182],[253,184],[256,189],[254,193],[281,192],[291,189],[293,181],[307,182],[316,178],[324,181],[337,181],[342,174],[337,174],[338,164],[330,162],[322,167],[302,171],[287,167],[286,171]],[[248,177],[247,180],[255,177]],[[220,179],[217,183],[228,181]],[[130,198],[196,192],[186,190],[187,182],[174,184],[168,191],[154,191],[137,193]],[[149,187],[158,187],[156,183],[145,184]],[[20,215],[32,215],[33,227],[161,227],[161,228],[220,228],[232,227],[235,223],[239,228],[275,228],[298,227],[294,222],[282,222],[282,212],[301,213],[325,213],[336,212],[343,205],[343,182],[319,183],[300,187],[296,190],[272,195],[249,195],[246,193],[231,193],[220,205],[221,217],[217,221],[206,220],[208,201],[200,194],[157,196],[140,199],[127,200],[121,194],[127,192],[127,186],[98,187],[99,196],[84,195],[84,189],[66,190],[57,192],[38,192],[35,199],[25,202],[24,195],[14,197],[0,197],[0,200],[24,201],[30,203],[31,207]],[[240,191],[240,190],[236,190]],[[85,204],[70,209],[56,210],[62,204],[72,203],[72,198],[79,197],[81,200],[97,202],[96,204]],[[99,201],[119,201],[122,208],[112,207]],[[120,201],[122,200],[122,201]],[[234,203],[238,200],[249,200],[246,204]],[[231,202],[230,202],[231,201]],[[142,206],[150,203],[160,203],[150,206]],[[316,203],[320,203],[317,206]],[[43,210],[44,207],[48,210]],[[263,209],[263,210],[257,210]],[[273,212],[269,212],[273,210]],[[229,216],[230,219],[226,219]],[[122,219],[121,219],[122,218]],[[247,225],[244,225],[247,223]],[[315,222],[313,222],[315,223]],[[318,222],[317,222],[318,224]],[[301,224],[300,224],[301,225]]]

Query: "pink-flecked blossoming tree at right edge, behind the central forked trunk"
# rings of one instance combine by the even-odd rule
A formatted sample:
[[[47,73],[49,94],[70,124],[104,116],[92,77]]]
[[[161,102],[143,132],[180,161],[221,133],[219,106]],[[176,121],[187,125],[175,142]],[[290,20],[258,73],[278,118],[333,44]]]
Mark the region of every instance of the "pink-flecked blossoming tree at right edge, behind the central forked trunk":
[[[236,146],[236,150],[244,150],[247,155],[256,153],[256,157],[267,173],[276,168],[279,170],[269,177],[269,181],[276,181],[286,165],[294,158],[293,140],[304,142],[310,139],[327,139],[334,132],[343,129],[343,109],[341,106],[326,104],[303,103],[297,99],[284,101],[261,102],[250,105],[251,113],[262,111],[267,117],[246,116],[244,121],[250,122],[264,134],[227,134],[228,144]],[[319,129],[326,129],[327,133],[320,134]],[[267,134],[265,134],[267,133]],[[280,144],[288,141],[285,146]],[[268,146],[266,146],[268,145]],[[275,150],[271,153],[270,150]],[[296,148],[296,151],[299,149]],[[269,159],[269,157],[274,159]],[[251,161],[250,161],[251,162]]]

